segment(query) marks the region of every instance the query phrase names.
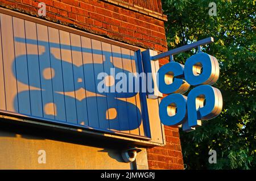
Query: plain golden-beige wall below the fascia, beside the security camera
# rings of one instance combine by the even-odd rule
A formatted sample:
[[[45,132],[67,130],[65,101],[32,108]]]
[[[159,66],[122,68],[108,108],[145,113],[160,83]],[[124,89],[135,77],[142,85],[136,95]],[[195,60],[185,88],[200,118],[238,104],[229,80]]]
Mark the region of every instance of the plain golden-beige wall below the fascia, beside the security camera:
[[[46,151],[46,163],[38,162],[39,150]],[[0,169],[135,169],[135,163],[122,161],[120,151],[0,130]],[[148,169],[145,149],[137,165]]]

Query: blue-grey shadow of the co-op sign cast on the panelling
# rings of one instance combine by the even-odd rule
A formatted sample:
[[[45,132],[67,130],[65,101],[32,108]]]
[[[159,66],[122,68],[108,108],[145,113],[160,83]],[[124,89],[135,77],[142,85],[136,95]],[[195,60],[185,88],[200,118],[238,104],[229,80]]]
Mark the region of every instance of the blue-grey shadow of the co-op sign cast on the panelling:
[[[15,37],[15,42],[38,48],[38,54],[23,54],[13,61],[13,73],[17,81],[30,88],[16,95],[14,101],[22,102],[22,106],[14,104],[15,111],[91,128],[112,131],[138,129],[142,124],[142,114],[136,102],[140,100],[136,99],[135,104],[127,100],[135,98],[138,92],[129,92],[129,86],[126,92],[120,93],[102,93],[97,90],[101,81],[97,75],[101,72],[111,74],[111,68],[115,68],[115,73],[127,74],[128,78],[131,72],[115,61],[121,61],[122,66],[122,61],[127,59],[135,61],[137,66],[136,54],[123,54],[120,47],[114,51],[118,47],[110,44],[110,51],[106,51],[102,49],[100,41],[87,38],[88,42],[83,46],[82,37],[79,39],[81,47]],[[40,51],[41,48],[44,50]],[[80,66],[75,65],[77,53],[81,59]],[[65,61],[65,58],[71,61]],[[115,66],[115,63],[119,66]],[[117,81],[112,86],[116,84]]]

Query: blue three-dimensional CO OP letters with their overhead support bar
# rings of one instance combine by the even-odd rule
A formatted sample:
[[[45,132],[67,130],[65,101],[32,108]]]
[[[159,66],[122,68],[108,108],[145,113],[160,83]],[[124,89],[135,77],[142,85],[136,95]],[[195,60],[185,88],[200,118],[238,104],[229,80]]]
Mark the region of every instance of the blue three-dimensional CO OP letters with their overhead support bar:
[[[152,53],[148,50],[142,52],[143,64],[170,56],[171,61],[163,65],[153,78],[157,82],[158,89],[151,93],[155,98],[159,98],[160,94],[167,94],[159,104],[159,117],[164,125],[182,126],[183,131],[189,132],[200,126],[201,120],[213,119],[220,114],[222,95],[220,90],[212,87],[220,74],[218,60],[201,52],[201,45],[212,42],[213,38],[209,37],[157,56],[151,56]],[[189,57],[185,65],[173,61],[174,54],[195,47],[199,47],[199,53]],[[147,72],[152,70],[146,68]],[[189,87],[191,91],[188,92],[188,96],[182,95],[189,90]]]

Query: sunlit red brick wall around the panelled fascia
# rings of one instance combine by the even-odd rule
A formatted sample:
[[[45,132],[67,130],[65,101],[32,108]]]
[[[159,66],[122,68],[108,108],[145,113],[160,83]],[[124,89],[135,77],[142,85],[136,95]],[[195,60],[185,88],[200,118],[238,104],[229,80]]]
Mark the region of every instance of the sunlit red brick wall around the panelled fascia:
[[[49,21],[158,52],[167,50],[160,0],[0,0],[0,6],[38,16],[39,2],[46,3],[44,19]],[[148,149],[148,165],[183,169],[179,130],[165,127],[165,133],[166,146]]]

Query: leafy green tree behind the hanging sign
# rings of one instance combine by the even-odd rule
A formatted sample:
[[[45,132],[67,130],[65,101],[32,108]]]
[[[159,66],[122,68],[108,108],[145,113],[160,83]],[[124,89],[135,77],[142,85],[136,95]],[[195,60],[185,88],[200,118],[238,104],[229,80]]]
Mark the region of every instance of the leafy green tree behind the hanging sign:
[[[256,38],[255,0],[163,0],[168,48],[214,37],[203,52],[220,63],[220,78],[213,85],[222,92],[224,107],[215,119],[203,121],[196,131],[181,132],[187,169],[256,169]],[[217,5],[210,16],[209,3]],[[195,50],[178,54],[182,62]],[[209,164],[209,150],[217,164]]]

